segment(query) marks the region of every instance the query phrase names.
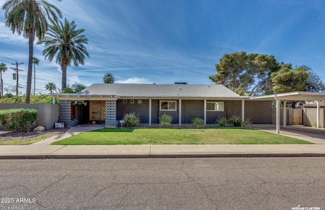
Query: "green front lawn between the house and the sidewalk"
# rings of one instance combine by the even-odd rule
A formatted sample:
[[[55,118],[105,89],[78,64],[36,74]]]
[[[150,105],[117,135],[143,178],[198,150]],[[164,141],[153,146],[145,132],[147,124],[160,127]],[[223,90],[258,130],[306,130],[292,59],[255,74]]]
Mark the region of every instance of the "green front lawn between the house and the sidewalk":
[[[297,138],[242,128],[103,128],[52,145],[313,144]]]

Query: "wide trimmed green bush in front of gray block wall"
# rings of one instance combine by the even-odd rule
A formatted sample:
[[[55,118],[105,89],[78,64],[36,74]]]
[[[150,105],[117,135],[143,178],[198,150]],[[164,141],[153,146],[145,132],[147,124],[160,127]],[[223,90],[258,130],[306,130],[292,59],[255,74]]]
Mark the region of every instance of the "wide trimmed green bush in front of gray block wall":
[[[27,132],[36,119],[34,109],[0,110],[0,125],[10,131]]]

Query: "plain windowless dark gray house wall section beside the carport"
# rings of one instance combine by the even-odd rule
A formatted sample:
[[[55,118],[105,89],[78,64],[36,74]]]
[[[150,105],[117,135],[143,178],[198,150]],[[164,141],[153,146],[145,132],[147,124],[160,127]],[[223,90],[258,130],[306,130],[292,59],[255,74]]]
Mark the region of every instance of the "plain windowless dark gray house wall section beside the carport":
[[[245,119],[255,124],[272,123],[272,101],[245,100]]]

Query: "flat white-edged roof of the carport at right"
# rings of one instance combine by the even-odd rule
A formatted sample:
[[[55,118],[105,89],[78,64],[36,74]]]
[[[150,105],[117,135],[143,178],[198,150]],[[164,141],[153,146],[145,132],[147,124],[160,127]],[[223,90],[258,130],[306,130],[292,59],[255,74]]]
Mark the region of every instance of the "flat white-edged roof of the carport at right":
[[[288,92],[288,93],[278,93],[273,95],[262,95],[262,96],[252,96],[252,100],[325,100],[325,92]]]

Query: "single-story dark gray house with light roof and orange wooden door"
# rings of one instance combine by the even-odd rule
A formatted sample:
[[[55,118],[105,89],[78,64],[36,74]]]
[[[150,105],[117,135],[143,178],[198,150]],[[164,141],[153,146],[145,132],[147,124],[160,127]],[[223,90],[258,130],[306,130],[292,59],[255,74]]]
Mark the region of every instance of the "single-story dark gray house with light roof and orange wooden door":
[[[59,97],[59,121],[70,125],[71,101],[82,101],[89,121],[105,122],[115,127],[116,121],[130,112],[140,114],[141,123],[159,123],[164,113],[173,124],[190,124],[192,118],[204,119],[205,125],[233,115],[250,118],[252,123],[272,123],[272,100],[251,100],[223,85],[188,84],[93,84],[79,93],[50,94]]]

